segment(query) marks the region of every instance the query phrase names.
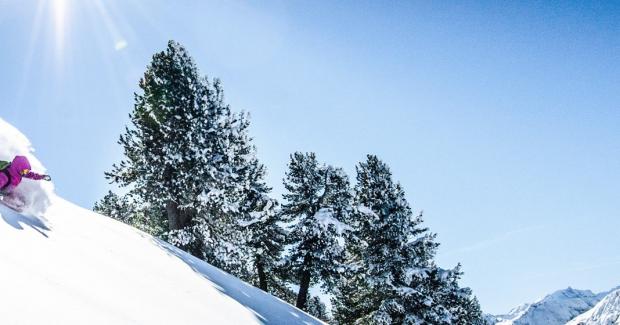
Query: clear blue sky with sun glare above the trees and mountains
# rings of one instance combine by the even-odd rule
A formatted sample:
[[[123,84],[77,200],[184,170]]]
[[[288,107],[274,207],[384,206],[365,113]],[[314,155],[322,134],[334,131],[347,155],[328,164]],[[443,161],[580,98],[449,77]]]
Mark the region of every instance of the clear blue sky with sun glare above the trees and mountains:
[[[487,312],[620,285],[620,3],[0,0],[0,117],[91,207],[169,39],[288,155],[375,153]]]

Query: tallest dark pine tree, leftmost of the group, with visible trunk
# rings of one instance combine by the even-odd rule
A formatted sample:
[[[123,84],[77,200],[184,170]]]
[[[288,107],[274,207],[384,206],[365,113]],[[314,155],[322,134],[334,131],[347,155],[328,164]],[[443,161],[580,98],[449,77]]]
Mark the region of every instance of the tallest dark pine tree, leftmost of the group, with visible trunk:
[[[170,41],[157,53],[140,80],[126,128],[119,143],[125,159],[107,177],[130,188],[142,201],[166,211],[168,227],[189,227],[196,214],[195,198],[203,190],[195,175],[204,147],[197,126],[206,124],[208,89],[187,51]],[[189,244],[189,243],[188,243]],[[202,245],[187,245],[200,256]]]

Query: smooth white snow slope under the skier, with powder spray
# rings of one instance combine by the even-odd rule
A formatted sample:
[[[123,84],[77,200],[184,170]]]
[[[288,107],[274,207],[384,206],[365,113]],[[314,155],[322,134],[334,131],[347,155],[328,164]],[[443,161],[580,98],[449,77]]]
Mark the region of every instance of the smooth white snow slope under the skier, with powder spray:
[[[0,119],[0,159],[28,140]],[[30,205],[0,206],[2,324],[319,324],[175,247],[24,180]]]

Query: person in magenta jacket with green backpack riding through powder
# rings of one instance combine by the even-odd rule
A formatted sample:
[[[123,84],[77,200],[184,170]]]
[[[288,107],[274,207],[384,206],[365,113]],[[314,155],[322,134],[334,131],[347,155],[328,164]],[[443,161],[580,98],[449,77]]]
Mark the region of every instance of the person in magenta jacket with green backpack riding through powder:
[[[0,161],[0,201],[14,210],[21,210],[24,200],[17,197],[13,190],[22,178],[51,181],[49,175],[40,175],[30,171],[30,162],[24,156],[15,156],[12,162]]]

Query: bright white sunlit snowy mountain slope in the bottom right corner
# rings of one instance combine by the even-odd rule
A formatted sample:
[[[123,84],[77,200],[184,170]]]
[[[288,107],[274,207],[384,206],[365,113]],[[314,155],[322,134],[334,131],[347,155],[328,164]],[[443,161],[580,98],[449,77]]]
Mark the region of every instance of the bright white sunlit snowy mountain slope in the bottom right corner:
[[[577,316],[567,325],[620,325],[620,289],[609,293],[594,308]]]

